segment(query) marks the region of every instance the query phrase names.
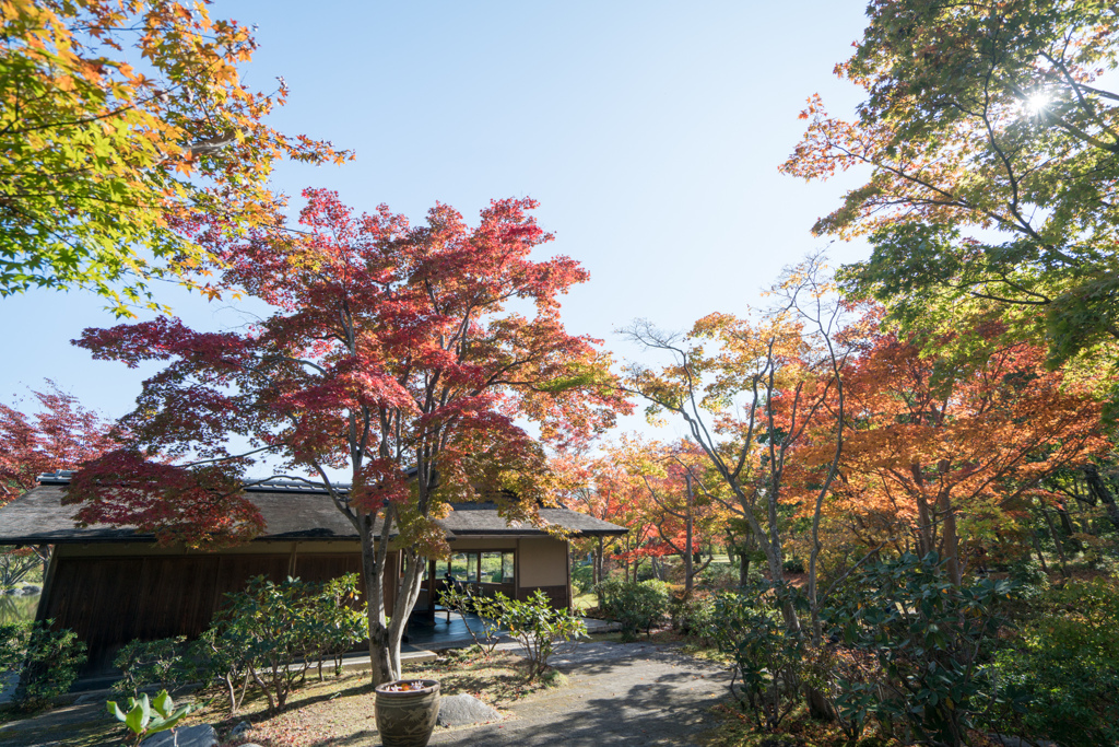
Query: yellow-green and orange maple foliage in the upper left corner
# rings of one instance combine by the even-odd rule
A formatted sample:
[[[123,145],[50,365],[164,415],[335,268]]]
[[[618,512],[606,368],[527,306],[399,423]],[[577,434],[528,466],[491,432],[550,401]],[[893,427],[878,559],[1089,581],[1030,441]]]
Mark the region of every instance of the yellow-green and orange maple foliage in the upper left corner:
[[[256,41],[207,4],[0,0],[0,297],[86,288],[128,316],[154,278],[214,295],[184,224],[275,224],[278,159],[348,157],[265,124],[286,86],[242,84]]]

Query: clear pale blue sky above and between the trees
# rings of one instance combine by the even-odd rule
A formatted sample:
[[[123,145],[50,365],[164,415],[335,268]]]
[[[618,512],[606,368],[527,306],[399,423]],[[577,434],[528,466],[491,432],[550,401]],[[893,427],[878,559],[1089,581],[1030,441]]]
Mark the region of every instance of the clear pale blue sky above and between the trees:
[[[210,12],[258,26],[247,82],[272,91],[282,75],[291,88],[273,125],[357,151],[342,167],[280,166],[274,186],[295,207],[303,187],[329,187],[359,209],[386,203],[419,222],[439,200],[472,223],[491,198],[534,197],[556,235],[549,252],[591,273],[565,301],[568,329],[633,358],[615,334],[632,319],[686,329],[711,311],[743,314],[783,265],[825,246],[809,227],[866,175],[805,184],[777,169],[806,97],[819,92],[838,114],[857,103],[831,69],[864,8],[216,0]],[[175,287],[160,300],[198,327],[243,321]],[[0,398],[50,377],[109,417],[128,412],[153,368],[69,345],[114,324],[102,307],[79,291],[0,300]]]

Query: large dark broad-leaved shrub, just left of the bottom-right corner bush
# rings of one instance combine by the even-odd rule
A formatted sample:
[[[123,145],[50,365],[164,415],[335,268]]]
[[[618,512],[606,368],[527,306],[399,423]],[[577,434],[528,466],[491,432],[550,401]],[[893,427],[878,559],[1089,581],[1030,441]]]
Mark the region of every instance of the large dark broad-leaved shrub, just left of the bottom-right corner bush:
[[[935,554],[905,553],[850,577],[825,617],[846,646],[873,655],[881,676],[840,678],[840,713],[854,723],[906,722],[927,744],[966,744],[993,692],[985,652],[1013,589],[991,580],[955,587]]]

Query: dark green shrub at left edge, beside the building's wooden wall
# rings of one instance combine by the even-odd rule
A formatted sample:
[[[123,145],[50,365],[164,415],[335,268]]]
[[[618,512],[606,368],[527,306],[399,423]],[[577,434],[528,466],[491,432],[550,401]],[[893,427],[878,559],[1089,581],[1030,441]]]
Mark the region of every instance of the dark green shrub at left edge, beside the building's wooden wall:
[[[37,710],[69,691],[85,663],[85,644],[73,631],[51,631],[54,620],[0,626],[0,671],[19,670],[13,700]]]

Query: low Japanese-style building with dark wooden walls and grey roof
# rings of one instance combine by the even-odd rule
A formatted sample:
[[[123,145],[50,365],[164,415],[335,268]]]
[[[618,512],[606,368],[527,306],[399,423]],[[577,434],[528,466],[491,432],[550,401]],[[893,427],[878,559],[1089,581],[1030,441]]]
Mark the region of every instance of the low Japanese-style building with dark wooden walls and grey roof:
[[[62,503],[68,484],[66,473],[43,475],[38,487],[0,508],[0,544],[54,545],[37,619],[77,633],[88,646],[86,674],[110,669],[130,641],[200,635],[224,595],[239,591],[254,576],[325,581],[361,569],[357,532],[322,488],[284,480],[246,488],[265,531],[209,552],[160,547],[152,535],[126,527],[79,526],[76,507]],[[568,508],[540,508],[539,515],[573,538],[627,532]],[[414,614],[434,613],[438,585],[448,572],[480,594],[524,599],[540,589],[554,606],[571,606],[566,539],[508,522],[491,503],[453,504],[439,524],[453,554],[430,561]],[[398,557],[391,550],[389,575],[399,572]],[[386,586],[391,609],[395,585]]]

